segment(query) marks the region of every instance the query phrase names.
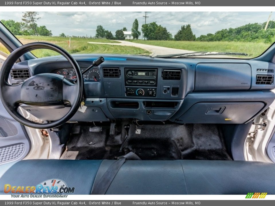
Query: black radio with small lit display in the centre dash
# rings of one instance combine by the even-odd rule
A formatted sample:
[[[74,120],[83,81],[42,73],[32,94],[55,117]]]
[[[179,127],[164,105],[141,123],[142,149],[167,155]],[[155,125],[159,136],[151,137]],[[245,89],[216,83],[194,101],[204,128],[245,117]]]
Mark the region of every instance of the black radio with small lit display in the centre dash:
[[[125,86],[157,86],[158,69],[125,68]]]

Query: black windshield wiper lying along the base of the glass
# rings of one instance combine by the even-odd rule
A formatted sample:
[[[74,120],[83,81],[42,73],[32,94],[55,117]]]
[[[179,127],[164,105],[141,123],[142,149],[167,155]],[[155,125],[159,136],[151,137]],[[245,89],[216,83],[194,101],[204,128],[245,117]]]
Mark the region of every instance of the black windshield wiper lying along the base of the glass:
[[[245,53],[237,53],[237,52],[206,52],[206,51],[197,51],[192,53],[182,53],[182,54],[169,54],[169,55],[157,55],[154,57],[158,58],[185,58],[185,57],[194,57],[194,56],[212,56],[212,55],[236,55],[236,56],[248,56]]]

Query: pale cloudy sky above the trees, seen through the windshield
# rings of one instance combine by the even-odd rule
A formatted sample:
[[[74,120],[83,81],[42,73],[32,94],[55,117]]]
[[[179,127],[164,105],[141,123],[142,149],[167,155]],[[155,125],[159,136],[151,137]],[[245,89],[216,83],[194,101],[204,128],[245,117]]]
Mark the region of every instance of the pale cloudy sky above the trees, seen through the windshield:
[[[45,25],[54,36],[61,33],[75,36],[95,36],[97,25],[102,25],[115,35],[117,29],[131,31],[135,18],[139,30],[144,23],[145,12],[38,12],[38,26]],[[148,12],[146,23],[154,22],[166,27],[174,36],[182,25],[191,24],[196,37],[235,28],[247,23],[263,23],[270,12]],[[21,21],[22,12],[0,12],[0,19]],[[271,20],[275,19],[275,13]]]

